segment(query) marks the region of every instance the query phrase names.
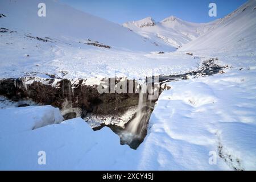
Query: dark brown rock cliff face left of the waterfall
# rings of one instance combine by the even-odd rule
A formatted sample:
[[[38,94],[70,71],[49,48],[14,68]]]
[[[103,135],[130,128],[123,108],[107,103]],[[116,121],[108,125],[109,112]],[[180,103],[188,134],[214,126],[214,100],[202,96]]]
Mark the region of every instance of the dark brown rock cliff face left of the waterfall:
[[[28,80],[32,80],[32,84],[26,85]],[[47,81],[48,84],[36,81],[35,77],[0,80],[0,94],[11,100],[31,98],[37,103],[52,105],[60,109],[63,109],[64,102],[69,102],[72,107],[79,107],[94,114],[122,113],[126,111],[127,107],[138,104],[138,94],[136,93],[100,94],[96,85],[82,84],[84,79],[80,79],[76,84],[62,79],[56,82],[56,86],[52,86],[55,81],[53,78],[44,81]]]

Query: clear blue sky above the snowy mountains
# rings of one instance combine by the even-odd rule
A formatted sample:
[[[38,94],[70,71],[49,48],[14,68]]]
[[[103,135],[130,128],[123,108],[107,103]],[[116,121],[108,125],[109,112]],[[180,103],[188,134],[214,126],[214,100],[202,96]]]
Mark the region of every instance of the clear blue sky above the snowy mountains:
[[[151,16],[160,21],[174,15],[189,22],[210,22],[236,10],[246,0],[60,0],[76,9],[124,23]],[[217,17],[208,15],[208,5],[217,5]]]

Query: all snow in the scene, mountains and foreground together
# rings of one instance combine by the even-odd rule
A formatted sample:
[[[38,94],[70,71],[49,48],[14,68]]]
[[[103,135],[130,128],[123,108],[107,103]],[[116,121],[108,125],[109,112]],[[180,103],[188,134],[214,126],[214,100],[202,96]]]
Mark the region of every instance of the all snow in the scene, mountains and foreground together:
[[[0,2],[1,13],[6,15],[0,26],[17,31],[0,36],[2,78],[34,75],[44,82],[46,74],[51,74],[89,78],[85,83],[93,85],[115,74],[139,80],[149,75],[186,73],[209,57],[217,57],[218,63],[232,68],[223,74],[169,82],[171,89],[160,95],[148,134],[137,150],[121,146],[119,137],[108,127],[93,131],[81,118],[62,122],[59,109],[52,106],[14,107],[3,98],[0,169],[256,169],[256,1],[207,24],[184,22],[174,16],[154,26],[138,26],[151,18],[137,22],[137,26],[134,22],[126,24],[139,35],[52,1],[46,1],[47,7],[50,5],[47,17],[51,18],[42,20],[31,16],[37,9],[28,8],[37,7],[38,1],[22,2]],[[18,8],[27,14],[16,11]],[[72,21],[74,18],[77,21]],[[52,42],[24,38],[29,32],[32,36],[49,36]],[[89,38],[113,48],[84,44]],[[159,46],[152,46],[156,40]],[[174,51],[177,46],[182,47],[157,53]],[[38,164],[42,150],[46,151],[46,165]],[[216,164],[209,163],[210,154],[216,154]]]

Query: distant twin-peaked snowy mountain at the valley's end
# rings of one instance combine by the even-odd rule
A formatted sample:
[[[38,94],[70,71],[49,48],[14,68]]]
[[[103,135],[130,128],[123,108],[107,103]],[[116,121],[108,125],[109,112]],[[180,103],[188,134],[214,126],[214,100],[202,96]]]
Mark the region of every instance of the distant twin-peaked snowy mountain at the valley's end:
[[[179,48],[207,32],[217,22],[218,20],[210,23],[191,23],[170,16],[161,22],[155,22],[151,17],[147,17],[142,20],[123,23],[123,26],[160,47]]]

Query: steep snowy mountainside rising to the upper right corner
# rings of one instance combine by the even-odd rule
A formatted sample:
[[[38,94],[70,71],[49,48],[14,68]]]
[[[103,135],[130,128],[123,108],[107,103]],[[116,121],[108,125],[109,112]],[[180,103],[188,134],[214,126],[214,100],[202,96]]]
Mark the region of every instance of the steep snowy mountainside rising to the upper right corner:
[[[207,34],[181,47],[179,51],[256,52],[256,1],[250,0],[218,20]]]

